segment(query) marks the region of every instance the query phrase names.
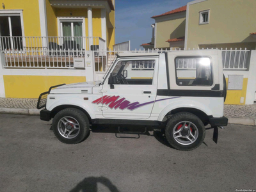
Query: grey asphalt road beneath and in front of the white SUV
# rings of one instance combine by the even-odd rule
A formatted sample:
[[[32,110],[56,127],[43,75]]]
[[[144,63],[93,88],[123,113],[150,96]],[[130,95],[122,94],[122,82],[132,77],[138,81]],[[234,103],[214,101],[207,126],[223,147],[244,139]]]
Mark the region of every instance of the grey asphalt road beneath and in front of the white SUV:
[[[38,116],[0,114],[0,121],[0,191],[256,189],[256,127],[228,125],[218,145],[209,130],[207,146],[181,152],[154,132],[120,139],[102,127],[65,145]]]

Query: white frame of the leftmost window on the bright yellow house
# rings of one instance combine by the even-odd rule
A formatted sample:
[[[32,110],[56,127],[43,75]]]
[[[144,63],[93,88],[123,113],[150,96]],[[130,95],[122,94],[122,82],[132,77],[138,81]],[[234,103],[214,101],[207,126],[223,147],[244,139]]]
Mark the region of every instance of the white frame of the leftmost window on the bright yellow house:
[[[0,17],[1,16],[7,16],[8,17],[8,23],[9,23],[9,29],[10,29],[10,36],[12,36],[12,22],[10,20],[10,16],[20,16],[20,24],[21,24],[21,32],[22,36],[25,36],[24,33],[24,22],[23,22],[23,10],[0,10]],[[26,40],[25,38],[22,40],[23,48],[26,47]],[[11,38],[11,46],[13,49],[13,42]]]

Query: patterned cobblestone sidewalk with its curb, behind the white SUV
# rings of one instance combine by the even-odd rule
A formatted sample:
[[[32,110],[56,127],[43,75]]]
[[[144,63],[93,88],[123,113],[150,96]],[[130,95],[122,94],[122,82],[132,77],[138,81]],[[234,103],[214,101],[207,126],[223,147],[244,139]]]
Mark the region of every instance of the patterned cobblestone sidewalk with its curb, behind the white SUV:
[[[39,115],[37,99],[0,98],[0,113]],[[225,105],[224,115],[230,124],[256,125],[256,104]]]

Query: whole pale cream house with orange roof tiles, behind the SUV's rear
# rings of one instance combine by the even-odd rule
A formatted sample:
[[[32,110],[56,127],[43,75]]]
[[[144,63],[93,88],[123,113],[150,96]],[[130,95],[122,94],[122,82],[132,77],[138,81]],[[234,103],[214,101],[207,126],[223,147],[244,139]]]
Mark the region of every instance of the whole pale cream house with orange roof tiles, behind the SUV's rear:
[[[256,49],[255,0],[196,0],[155,19],[155,49]],[[148,44],[141,46],[147,49]]]

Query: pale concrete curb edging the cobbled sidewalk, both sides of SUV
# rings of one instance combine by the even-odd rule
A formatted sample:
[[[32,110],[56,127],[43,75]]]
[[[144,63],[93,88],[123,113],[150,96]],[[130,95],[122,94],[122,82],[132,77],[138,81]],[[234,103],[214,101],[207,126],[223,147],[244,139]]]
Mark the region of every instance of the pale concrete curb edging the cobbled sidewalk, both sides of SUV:
[[[40,109],[0,108],[0,113],[17,115],[40,115]],[[256,118],[227,117],[228,124],[256,125]]]

